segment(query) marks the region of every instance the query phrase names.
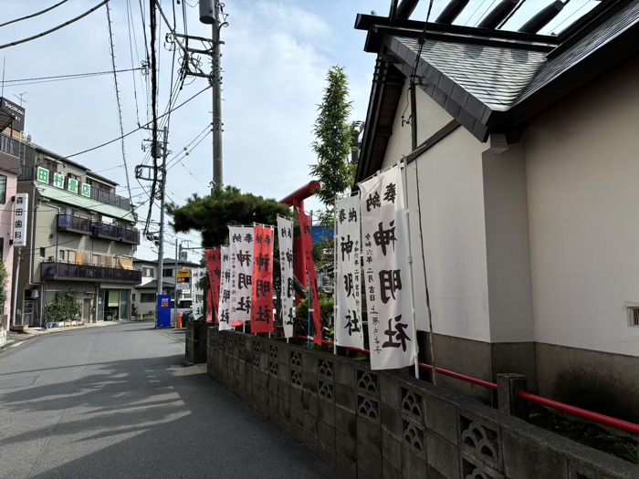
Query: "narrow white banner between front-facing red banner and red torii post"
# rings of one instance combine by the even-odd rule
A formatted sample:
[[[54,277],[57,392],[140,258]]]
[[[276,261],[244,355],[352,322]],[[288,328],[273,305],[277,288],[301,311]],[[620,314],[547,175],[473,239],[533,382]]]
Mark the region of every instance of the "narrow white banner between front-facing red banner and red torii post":
[[[295,320],[295,288],[293,287],[293,222],[278,216],[279,272],[281,285],[282,322],[284,336],[293,338]]]

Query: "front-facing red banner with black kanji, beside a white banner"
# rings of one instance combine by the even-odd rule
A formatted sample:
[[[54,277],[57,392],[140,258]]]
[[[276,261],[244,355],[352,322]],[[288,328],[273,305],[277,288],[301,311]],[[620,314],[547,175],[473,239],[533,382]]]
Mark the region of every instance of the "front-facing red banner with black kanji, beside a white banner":
[[[273,228],[256,226],[253,231],[253,285],[251,332],[272,333],[273,322]]]

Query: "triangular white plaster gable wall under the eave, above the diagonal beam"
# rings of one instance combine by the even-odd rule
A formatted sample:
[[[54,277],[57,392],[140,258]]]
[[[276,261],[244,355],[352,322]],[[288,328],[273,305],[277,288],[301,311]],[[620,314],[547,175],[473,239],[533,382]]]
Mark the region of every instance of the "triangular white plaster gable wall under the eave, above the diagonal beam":
[[[402,97],[400,98],[397,115],[393,122],[393,135],[391,135],[388,141],[382,168],[400,161],[404,156],[413,151],[411,148],[411,125],[404,124],[402,126],[402,115],[404,120],[408,120],[411,116],[410,107],[406,109],[406,105],[410,104],[407,101],[409,99],[408,86],[409,82],[404,82]],[[435,100],[431,99],[424,91],[419,89],[419,87],[416,89],[415,98],[417,99],[417,146],[419,146],[450,120],[453,120],[453,117],[435,103]]]

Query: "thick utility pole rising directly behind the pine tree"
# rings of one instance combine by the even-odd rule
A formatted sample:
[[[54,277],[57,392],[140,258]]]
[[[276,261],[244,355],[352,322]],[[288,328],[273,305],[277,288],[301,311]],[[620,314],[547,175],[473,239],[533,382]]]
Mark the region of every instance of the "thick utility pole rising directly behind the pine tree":
[[[211,58],[211,86],[213,90],[213,184],[211,193],[215,188],[222,188],[222,55],[220,53],[220,2],[214,0],[215,22],[213,23],[213,55]]]

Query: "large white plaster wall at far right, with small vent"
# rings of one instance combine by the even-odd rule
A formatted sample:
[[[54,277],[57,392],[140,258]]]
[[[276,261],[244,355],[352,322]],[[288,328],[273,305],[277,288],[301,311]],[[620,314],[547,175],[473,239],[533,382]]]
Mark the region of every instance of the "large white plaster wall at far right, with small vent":
[[[525,130],[538,341],[639,355],[639,61]]]

